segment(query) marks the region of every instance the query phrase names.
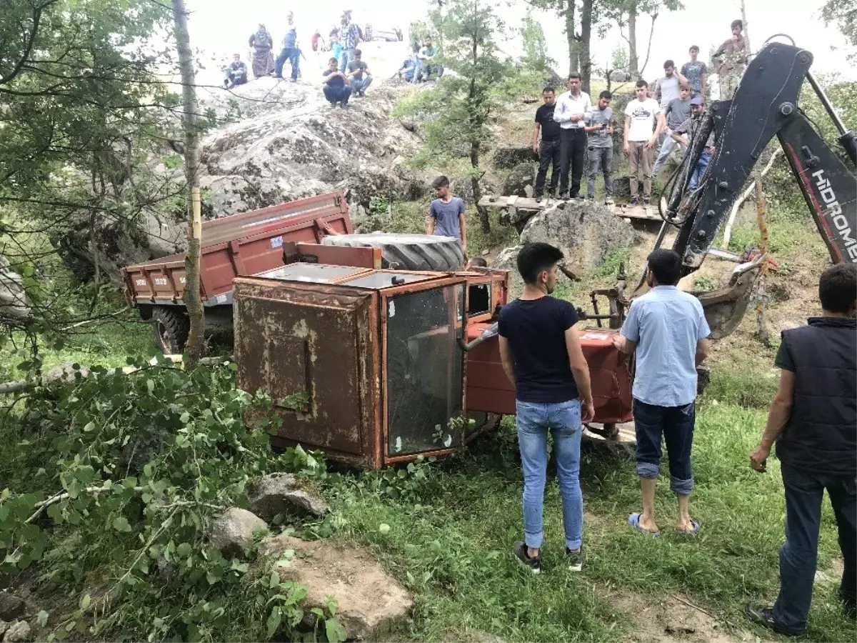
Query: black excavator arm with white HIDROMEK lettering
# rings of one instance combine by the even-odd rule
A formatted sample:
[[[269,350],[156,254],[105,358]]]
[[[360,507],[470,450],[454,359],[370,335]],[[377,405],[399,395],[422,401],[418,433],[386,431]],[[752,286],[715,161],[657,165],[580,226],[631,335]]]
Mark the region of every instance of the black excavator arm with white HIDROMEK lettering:
[[[792,45],[770,43],[747,66],[731,101],[711,105],[708,127],[716,133],[709,170],[680,225],[674,249],[685,274],[703,262],[717,229],[727,218],[764,147],[778,136],[789,165],[834,261],[857,261],[857,178],[798,110],[804,78],[818,93],[841,135],[840,142],[857,165],[857,135],[848,132],[830,101],[809,73],[812,54]],[[694,137],[689,167],[696,165],[704,141]],[[687,202],[686,180],[670,203]]]

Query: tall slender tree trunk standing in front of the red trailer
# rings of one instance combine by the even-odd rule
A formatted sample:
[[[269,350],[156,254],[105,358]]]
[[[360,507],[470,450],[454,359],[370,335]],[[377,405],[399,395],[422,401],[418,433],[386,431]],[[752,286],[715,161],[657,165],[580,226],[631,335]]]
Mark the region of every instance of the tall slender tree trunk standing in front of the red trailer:
[[[188,177],[190,195],[190,225],[188,234],[188,254],[185,256],[184,269],[187,284],[184,291],[184,303],[190,317],[190,334],[185,352],[188,365],[194,366],[202,356],[202,342],[205,340],[205,310],[200,294],[200,246],[202,238],[201,201],[200,201],[200,135],[197,123],[199,107],[196,103],[196,75],[194,55],[190,50],[188,31],[188,11],[184,0],[172,0],[172,15],[176,23],[176,45],[178,66],[182,73],[183,124],[184,124],[184,170]]]

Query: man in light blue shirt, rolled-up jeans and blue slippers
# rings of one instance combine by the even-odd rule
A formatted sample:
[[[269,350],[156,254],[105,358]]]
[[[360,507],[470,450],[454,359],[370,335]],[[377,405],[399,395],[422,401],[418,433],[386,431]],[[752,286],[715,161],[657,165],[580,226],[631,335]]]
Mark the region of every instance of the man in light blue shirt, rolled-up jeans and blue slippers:
[[[634,427],[643,512],[631,514],[628,524],[641,532],[660,534],[655,522],[655,484],[663,436],[667,443],[669,487],[679,498],[676,529],[692,535],[699,529],[689,510],[696,367],[708,355],[711,331],[699,300],[675,287],[681,277],[679,254],[657,249],[649,255],[648,268],[646,281],[651,291],[634,300],[621,334],[613,340],[621,352],[637,353]]]

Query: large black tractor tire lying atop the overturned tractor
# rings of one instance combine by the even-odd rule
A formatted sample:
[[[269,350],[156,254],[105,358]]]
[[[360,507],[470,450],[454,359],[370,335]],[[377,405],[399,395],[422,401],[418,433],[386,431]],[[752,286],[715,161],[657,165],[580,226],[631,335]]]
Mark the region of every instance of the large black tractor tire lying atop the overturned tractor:
[[[464,266],[464,251],[458,239],[429,234],[337,234],[324,237],[325,245],[381,249],[381,267],[399,270],[455,272]]]

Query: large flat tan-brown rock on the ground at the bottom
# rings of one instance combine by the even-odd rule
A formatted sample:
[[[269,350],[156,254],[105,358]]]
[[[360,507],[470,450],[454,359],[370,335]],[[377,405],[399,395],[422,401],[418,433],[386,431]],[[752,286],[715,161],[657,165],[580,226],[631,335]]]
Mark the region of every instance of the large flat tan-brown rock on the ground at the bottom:
[[[348,640],[381,640],[409,616],[411,595],[368,550],[288,535],[266,538],[260,550],[273,561],[282,561],[286,552],[291,556],[277,571],[281,579],[307,587],[304,611],[323,608],[328,596],[336,598],[336,617]]]

